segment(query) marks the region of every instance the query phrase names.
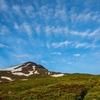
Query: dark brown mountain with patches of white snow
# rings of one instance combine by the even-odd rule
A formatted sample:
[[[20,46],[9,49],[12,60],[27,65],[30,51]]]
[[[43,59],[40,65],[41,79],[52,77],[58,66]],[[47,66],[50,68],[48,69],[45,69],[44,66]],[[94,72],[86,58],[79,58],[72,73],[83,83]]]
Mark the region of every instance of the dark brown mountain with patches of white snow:
[[[52,72],[34,62],[25,62],[17,66],[0,70],[0,82],[25,81],[31,78],[60,77],[64,73]]]

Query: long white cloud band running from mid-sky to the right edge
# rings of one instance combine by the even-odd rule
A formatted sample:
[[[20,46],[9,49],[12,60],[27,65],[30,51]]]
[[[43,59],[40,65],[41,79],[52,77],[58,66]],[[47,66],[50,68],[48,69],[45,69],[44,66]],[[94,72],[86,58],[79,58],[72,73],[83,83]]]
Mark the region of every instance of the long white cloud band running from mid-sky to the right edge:
[[[41,28],[40,27],[37,27],[37,31],[40,31]],[[90,29],[87,29],[85,31],[76,31],[76,30],[69,30],[67,26],[65,27],[54,27],[54,26],[46,26],[44,28],[45,30],[45,33],[46,33],[46,36],[49,36],[50,34],[54,34],[55,36],[57,35],[68,35],[68,34],[71,34],[71,35],[74,35],[74,36],[80,36],[80,37],[83,37],[83,38],[96,38],[99,36],[99,33],[100,33],[100,27],[93,30],[91,32]]]

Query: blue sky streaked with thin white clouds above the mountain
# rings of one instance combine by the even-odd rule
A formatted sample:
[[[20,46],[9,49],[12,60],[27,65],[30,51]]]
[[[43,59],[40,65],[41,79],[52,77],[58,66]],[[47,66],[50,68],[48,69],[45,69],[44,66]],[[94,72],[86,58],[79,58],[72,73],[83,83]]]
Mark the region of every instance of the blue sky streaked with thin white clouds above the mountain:
[[[26,61],[100,74],[100,0],[0,0],[0,69]]]

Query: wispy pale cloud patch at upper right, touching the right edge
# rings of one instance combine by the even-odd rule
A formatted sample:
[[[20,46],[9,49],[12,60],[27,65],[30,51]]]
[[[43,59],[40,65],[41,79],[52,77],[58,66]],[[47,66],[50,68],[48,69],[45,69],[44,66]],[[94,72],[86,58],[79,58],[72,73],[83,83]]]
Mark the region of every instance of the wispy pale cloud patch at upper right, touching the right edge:
[[[68,12],[70,15],[71,22],[73,24],[79,22],[87,23],[89,21],[99,22],[99,18],[100,18],[99,11],[91,11],[89,8],[86,8],[82,12],[77,13],[75,9],[76,7],[72,7],[71,10]]]

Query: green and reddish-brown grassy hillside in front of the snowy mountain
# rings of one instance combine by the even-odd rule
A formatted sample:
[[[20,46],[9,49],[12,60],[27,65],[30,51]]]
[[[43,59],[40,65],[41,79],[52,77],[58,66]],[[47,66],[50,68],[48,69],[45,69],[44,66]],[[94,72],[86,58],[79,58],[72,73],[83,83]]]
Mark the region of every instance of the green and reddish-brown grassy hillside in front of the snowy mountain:
[[[100,76],[70,74],[2,83],[0,100],[100,100]]]

